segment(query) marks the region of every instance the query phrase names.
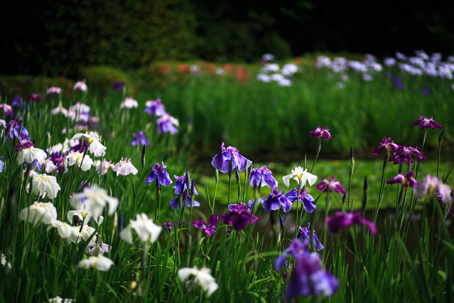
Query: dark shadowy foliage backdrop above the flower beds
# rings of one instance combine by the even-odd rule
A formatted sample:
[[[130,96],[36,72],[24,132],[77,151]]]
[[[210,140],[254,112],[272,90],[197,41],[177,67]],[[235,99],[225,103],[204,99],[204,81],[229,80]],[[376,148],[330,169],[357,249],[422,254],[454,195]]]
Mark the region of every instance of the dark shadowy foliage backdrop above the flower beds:
[[[306,52],[451,55],[450,1],[4,1],[0,74],[77,77],[157,60],[278,59]]]

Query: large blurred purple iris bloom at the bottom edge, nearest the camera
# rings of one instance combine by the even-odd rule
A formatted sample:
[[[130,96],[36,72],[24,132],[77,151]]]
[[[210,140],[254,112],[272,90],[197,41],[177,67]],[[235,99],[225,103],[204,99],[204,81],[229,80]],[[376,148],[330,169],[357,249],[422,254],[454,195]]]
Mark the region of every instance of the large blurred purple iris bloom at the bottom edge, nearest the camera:
[[[317,252],[295,257],[295,267],[290,274],[286,298],[295,296],[332,296],[339,289],[339,281],[321,267]]]

